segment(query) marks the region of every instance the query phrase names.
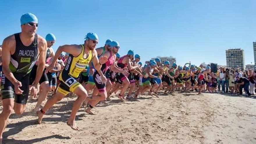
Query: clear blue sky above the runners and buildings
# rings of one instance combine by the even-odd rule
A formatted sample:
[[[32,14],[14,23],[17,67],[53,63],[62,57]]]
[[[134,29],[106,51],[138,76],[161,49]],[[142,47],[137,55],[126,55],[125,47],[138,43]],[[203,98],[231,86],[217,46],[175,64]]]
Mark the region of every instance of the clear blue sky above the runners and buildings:
[[[120,43],[121,56],[133,49],[142,62],[173,56],[182,65],[226,65],[225,50],[241,47],[246,64],[254,63],[255,0],[15,0],[0,5],[0,42],[20,32],[20,16],[30,12],[38,17],[39,35],[56,36],[55,50],[81,44],[86,33],[95,32],[97,47],[111,38]]]

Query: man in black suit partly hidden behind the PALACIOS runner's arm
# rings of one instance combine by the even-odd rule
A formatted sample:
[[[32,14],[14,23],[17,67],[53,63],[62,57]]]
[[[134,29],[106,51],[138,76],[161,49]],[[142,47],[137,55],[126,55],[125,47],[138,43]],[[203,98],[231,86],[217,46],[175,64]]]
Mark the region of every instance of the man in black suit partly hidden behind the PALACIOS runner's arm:
[[[52,33],[49,33],[46,35],[45,40],[47,41],[47,52],[46,52],[46,61],[47,61],[48,58],[54,57],[54,52],[53,52],[53,49],[51,48],[51,46],[53,46],[56,38]],[[48,64],[45,65],[45,67],[48,67],[48,66],[49,66]],[[36,74],[37,67],[38,67],[37,63],[35,63],[35,65],[33,66],[32,70],[31,70],[31,74],[29,77],[30,85],[35,80],[35,74]],[[38,101],[35,105],[35,108],[33,109],[33,111],[35,111],[35,112],[40,110],[40,106],[41,106],[42,102],[46,99],[46,95],[51,90],[51,87],[49,86],[49,79],[48,79],[47,74],[45,73],[45,69],[43,71],[43,74],[39,81],[39,84],[40,84],[40,90],[39,90]]]

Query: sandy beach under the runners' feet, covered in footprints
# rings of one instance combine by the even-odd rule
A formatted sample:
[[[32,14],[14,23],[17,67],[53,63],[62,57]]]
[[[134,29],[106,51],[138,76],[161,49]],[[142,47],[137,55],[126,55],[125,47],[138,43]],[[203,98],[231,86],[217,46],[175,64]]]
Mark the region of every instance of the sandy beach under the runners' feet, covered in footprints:
[[[126,102],[112,97],[93,109],[97,115],[80,108],[81,131],[66,125],[75,96],[55,104],[40,125],[32,111],[37,99],[29,99],[23,115],[10,116],[3,143],[256,143],[256,97],[196,94],[143,95]]]

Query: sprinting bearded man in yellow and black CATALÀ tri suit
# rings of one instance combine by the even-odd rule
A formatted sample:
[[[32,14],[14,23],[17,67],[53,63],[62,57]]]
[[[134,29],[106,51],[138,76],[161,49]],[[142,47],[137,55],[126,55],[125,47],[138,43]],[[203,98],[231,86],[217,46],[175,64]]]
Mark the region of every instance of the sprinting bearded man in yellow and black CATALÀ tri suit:
[[[56,102],[60,101],[65,95],[69,92],[75,93],[78,97],[77,100],[73,104],[73,108],[70,114],[70,118],[67,121],[67,125],[69,125],[74,130],[79,130],[76,125],[75,117],[77,111],[81,107],[81,104],[87,97],[87,91],[83,88],[83,86],[76,80],[79,74],[83,71],[86,65],[93,61],[94,67],[97,71],[100,71],[100,68],[103,63],[107,61],[106,56],[102,56],[99,60],[97,58],[97,52],[95,50],[95,46],[98,43],[98,36],[96,33],[87,33],[86,40],[82,45],[63,45],[60,46],[56,54],[54,56],[54,60],[49,67],[47,67],[46,72],[53,69],[55,66],[55,62],[62,51],[69,53],[69,57],[67,60],[67,64],[65,68],[62,70],[59,76],[59,80],[61,81],[60,86],[56,94],[51,97],[45,104],[45,106],[37,111],[38,115],[38,123],[42,122],[43,115],[45,111],[47,111],[51,106],[53,106]],[[102,82],[106,82],[102,73],[100,73]]]

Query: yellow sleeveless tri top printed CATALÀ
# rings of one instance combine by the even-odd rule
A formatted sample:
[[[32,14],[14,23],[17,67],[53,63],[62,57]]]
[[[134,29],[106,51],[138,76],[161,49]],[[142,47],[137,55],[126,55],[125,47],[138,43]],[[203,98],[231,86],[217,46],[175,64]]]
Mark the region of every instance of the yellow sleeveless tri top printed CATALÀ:
[[[68,73],[74,78],[79,77],[79,74],[86,68],[86,65],[89,64],[90,60],[92,59],[92,51],[90,50],[87,58],[83,58],[84,46],[82,46],[82,52],[77,56],[73,56],[69,54],[67,58],[67,64],[65,65],[62,72]]]

